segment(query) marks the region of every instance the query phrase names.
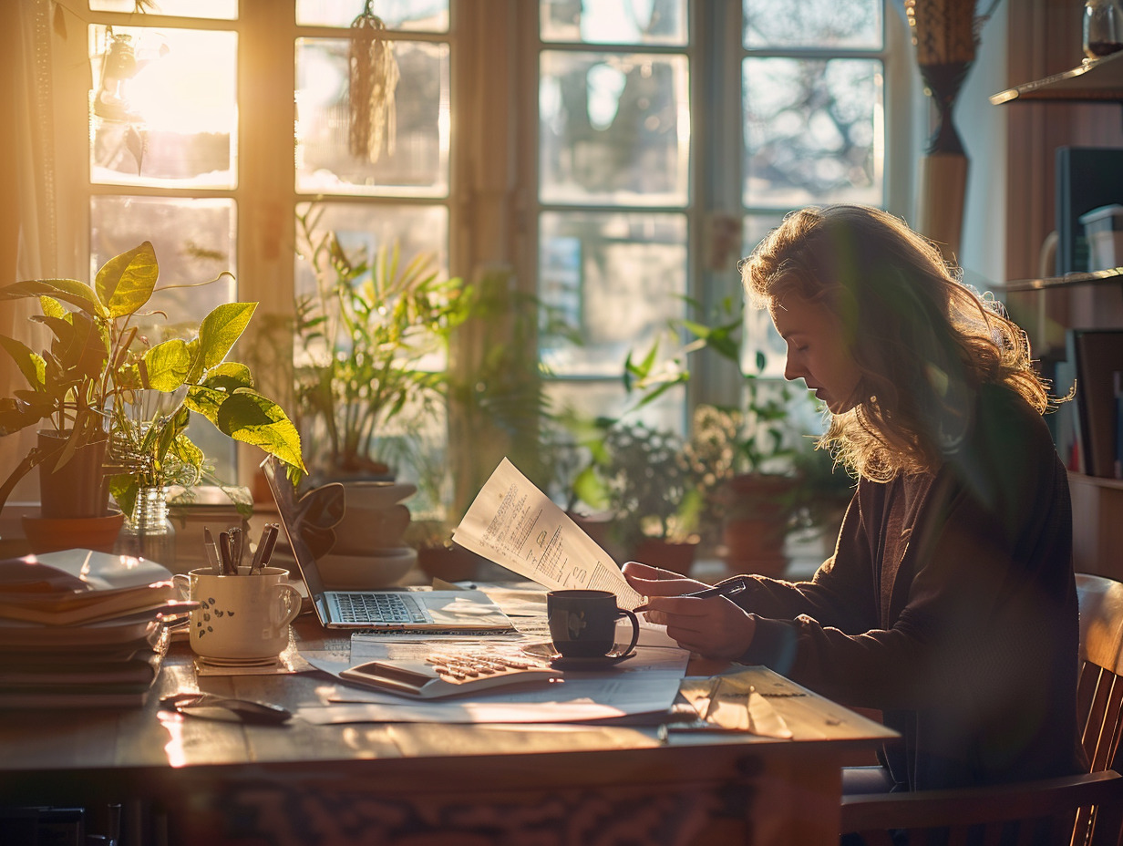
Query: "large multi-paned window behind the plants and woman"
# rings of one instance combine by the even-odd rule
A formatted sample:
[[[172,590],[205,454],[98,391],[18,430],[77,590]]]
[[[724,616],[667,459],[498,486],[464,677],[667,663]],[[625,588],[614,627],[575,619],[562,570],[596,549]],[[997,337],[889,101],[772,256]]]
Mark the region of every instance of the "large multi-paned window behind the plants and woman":
[[[145,238],[163,285],[234,271],[159,308],[198,321],[257,300],[239,354],[264,356],[255,333],[291,319],[311,284],[298,218],[367,257],[400,240],[468,280],[499,263],[582,337],[539,335],[554,401],[614,415],[629,351],[691,302],[739,299],[738,253],[786,211],[907,199],[909,167],[886,156],[886,102],[901,97],[886,67],[905,36],[884,0],[374,0],[400,73],[396,128],[380,155],[356,157],[348,36],[363,7],[60,7],[57,155],[89,165],[57,204],[84,210],[91,274]],[[86,62],[86,79],[62,70]],[[761,318],[749,315],[748,337],[768,348]],[[258,372],[283,399],[285,367]],[[700,370],[646,419],[683,430],[690,403],[736,390]],[[229,442],[201,445],[232,477]]]

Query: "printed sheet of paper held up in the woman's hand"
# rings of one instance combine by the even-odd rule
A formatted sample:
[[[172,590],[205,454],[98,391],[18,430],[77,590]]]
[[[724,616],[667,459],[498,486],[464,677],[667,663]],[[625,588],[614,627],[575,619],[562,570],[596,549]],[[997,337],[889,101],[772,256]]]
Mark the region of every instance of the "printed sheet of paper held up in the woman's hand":
[[[453,540],[549,590],[611,591],[629,610],[642,601],[609,554],[506,458],[476,494]]]

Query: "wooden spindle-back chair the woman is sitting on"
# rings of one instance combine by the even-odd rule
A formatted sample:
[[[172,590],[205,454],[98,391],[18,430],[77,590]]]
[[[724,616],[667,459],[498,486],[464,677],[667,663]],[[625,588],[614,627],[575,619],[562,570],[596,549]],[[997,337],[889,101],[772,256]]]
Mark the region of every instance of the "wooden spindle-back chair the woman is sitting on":
[[[1123,727],[1123,584],[1085,573],[1076,581],[1077,707],[1090,772],[990,788],[844,797],[843,833],[859,833],[869,846],[928,844],[940,830],[949,844],[1120,844],[1123,777],[1113,767]]]

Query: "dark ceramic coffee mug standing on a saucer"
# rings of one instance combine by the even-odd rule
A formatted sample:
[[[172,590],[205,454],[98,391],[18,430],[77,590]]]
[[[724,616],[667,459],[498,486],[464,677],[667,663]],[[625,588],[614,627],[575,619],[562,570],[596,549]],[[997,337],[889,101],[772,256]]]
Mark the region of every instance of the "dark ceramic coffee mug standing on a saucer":
[[[639,620],[631,611],[617,608],[611,591],[550,591],[546,594],[546,617],[554,648],[565,658],[623,658],[639,640]],[[631,620],[632,639],[627,649],[617,652],[617,620],[621,617]]]

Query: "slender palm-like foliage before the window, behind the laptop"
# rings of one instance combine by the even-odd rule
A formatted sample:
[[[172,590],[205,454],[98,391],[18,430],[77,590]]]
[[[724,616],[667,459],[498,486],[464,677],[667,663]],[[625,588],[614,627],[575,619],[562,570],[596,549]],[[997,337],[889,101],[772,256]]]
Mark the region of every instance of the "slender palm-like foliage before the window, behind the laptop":
[[[438,275],[433,256],[403,261],[394,243],[368,263],[336,233],[319,233],[318,221],[314,211],[298,217],[316,275],[316,290],[296,301],[298,425],[327,435],[326,475],[385,474],[375,452],[387,424],[444,399],[446,374],[433,356],[465,319],[466,300],[460,280]]]

